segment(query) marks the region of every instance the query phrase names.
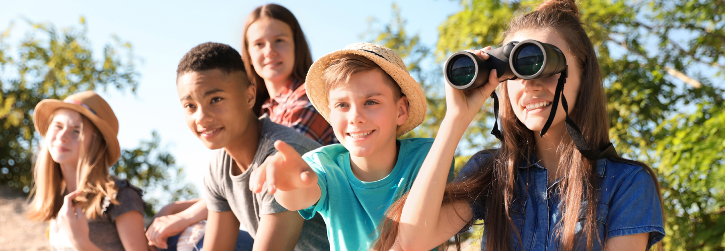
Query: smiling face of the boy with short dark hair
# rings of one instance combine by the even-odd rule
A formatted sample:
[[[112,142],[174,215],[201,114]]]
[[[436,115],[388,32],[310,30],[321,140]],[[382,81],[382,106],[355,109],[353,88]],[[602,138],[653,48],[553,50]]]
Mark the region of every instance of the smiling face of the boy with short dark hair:
[[[210,149],[224,148],[247,132],[256,88],[219,69],[186,72],[176,80],[186,124]]]

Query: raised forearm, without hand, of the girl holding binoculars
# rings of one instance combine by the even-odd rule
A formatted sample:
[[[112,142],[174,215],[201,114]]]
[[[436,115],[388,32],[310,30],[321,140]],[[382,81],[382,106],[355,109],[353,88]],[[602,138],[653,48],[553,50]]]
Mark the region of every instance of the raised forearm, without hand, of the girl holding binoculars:
[[[416,239],[437,235],[450,163],[467,126],[456,117],[444,118],[403,206],[398,231],[400,242],[415,243]]]

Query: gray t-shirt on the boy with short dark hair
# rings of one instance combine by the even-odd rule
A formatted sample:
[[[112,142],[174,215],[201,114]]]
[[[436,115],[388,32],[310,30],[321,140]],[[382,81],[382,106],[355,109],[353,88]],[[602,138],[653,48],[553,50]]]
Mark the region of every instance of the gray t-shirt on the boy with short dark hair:
[[[287,209],[279,205],[274,195],[268,195],[266,190],[257,194],[249,191],[249,175],[265,161],[267,156],[277,153],[274,148],[274,142],[277,140],[291,145],[300,155],[320,147],[318,142],[310,140],[294,129],[271,122],[267,116],[260,117],[260,120],[262,121],[260,140],[249,169],[237,176],[232,175],[234,161],[224,149],[219,149],[212,157],[209,171],[204,176],[207,208],[215,212],[231,210],[252,238],[257,234],[262,214],[281,213]],[[330,250],[329,245],[325,222],[318,214],[302,225],[302,233],[299,234],[294,250]]]

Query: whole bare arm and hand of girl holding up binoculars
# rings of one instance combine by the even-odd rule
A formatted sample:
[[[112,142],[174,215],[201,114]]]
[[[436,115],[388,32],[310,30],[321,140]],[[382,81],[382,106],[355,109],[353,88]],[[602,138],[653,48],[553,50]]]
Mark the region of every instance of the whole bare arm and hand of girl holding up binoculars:
[[[490,47],[483,50],[488,49]],[[472,52],[488,59],[483,51]],[[442,206],[443,193],[458,142],[498,83],[496,72],[492,70],[489,83],[480,88],[456,90],[445,86],[446,116],[403,206],[397,236],[400,249],[431,250],[450,239],[473,218],[467,202]]]

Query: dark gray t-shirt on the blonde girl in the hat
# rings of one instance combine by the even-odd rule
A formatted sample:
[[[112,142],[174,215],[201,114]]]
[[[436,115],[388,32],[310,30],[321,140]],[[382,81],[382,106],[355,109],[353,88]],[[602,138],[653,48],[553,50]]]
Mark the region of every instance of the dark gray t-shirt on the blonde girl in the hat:
[[[143,194],[141,189],[129,184],[128,180],[118,179],[115,176],[112,176],[112,179],[115,179],[116,187],[118,188],[118,193],[116,194],[118,205],[109,203],[101,217],[88,220],[88,230],[90,230],[88,237],[101,250],[123,251],[123,243],[121,243],[121,239],[118,237],[118,230],[116,229],[116,218],[131,210],[137,210],[143,215],[146,203],[141,199],[141,195]],[[70,239],[67,238],[67,233],[63,232],[65,230],[58,228],[56,221],[55,218],[52,219],[48,229],[51,249],[58,251],[75,250],[70,243]]]

